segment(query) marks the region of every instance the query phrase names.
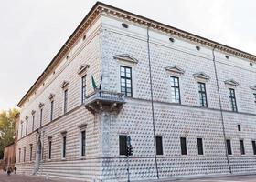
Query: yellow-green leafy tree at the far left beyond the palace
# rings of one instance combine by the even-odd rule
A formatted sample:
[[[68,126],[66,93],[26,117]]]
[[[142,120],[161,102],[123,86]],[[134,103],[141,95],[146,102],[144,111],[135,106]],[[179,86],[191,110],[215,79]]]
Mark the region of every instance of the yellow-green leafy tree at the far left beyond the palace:
[[[15,116],[18,112],[16,108],[0,112],[0,158],[4,157],[5,146],[15,141]]]

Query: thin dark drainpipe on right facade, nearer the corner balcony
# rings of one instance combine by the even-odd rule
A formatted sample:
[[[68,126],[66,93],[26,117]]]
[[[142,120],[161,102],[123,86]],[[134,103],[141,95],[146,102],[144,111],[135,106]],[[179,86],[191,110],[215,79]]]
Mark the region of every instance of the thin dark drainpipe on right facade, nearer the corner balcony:
[[[153,84],[152,84],[152,74],[151,74],[151,60],[150,60],[150,46],[149,46],[149,26],[151,23],[148,23],[146,33],[147,33],[147,57],[148,57],[148,66],[149,66],[149,80],[150,80],[150,94],[151,94],[151,108],[152,108],[152,122],[153,122],[153,135],[154,135],[154,157],[155,157],[155,169],[156,177],[159,179],[158,167],[157,167],[157,158],[156,158],[156,141],[155,141],[155,113],[154,113],[154,101],[153,101]]]

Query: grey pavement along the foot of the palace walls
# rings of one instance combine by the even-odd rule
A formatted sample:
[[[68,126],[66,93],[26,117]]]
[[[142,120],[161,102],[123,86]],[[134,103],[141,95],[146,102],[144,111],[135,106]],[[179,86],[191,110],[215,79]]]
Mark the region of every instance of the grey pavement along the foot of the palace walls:
[[[178,179],[176,182],[256,182],[256,175],[250,176],[230,176],[230,177],[208,177],[199,179]],[[78,182],[73,180],[63,180],[58,178],[49,177],[35,177],[35,176],[25,176],[25,175],[15,175],[11,174],[7,176],[4,173],[0,173],[0,182]],[[166,182],[166,181],[165,181]]]

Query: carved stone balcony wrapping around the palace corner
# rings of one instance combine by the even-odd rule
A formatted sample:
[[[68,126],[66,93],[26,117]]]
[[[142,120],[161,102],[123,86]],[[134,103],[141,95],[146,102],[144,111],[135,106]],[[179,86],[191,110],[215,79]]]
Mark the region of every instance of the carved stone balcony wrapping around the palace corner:
[[[119,112],[124,103],[123,94],[96,89],[89,96],[86,96],[84,106],[92,114],[95,114],[101,111]]]

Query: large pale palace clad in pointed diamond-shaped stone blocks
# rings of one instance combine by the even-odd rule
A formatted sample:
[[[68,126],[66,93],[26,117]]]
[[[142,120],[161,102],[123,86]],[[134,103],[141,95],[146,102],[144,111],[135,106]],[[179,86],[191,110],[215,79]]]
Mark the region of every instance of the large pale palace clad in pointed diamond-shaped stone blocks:
[[[252,174],[256,56],[96,3],[18,103],[21,174]],[[133,156],[126,157],[127,136]]]

